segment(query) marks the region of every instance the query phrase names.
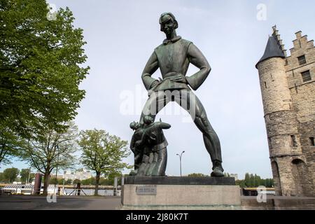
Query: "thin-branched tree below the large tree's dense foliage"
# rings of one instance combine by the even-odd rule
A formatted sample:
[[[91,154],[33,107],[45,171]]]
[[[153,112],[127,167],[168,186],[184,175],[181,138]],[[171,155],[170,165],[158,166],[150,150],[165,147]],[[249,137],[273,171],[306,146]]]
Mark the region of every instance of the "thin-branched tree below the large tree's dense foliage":
[[[47,195],[52,169],[57,167],[66,169],[73,166],[76,161],[73,153],[77,151],[78,128],[73,122],[67,124],[68,128],[63,132],[56,132],[49,128],[37,130],[21,155],[31,167],[44,174],[44,195]]]

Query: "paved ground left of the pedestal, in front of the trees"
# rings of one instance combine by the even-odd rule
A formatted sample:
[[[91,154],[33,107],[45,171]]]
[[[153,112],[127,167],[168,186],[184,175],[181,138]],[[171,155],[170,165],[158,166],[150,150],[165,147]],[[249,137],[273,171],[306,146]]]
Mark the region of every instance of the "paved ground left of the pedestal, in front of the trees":
[[[0,210],[115,210],[120,197],[61,196],[49,203],[43,196],[0,195]]]

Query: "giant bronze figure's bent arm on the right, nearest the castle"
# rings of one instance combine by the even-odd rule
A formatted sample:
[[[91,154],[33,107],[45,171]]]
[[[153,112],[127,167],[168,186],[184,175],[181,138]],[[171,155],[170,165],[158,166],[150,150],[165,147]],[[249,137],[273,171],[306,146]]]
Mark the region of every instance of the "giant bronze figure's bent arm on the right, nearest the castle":
[[[206,57],[204,57],[202,52],[193,43],[190,43],[188,47],[188,59],[191,64],[200,69],[200,71],[193,74],[193,76],[186,77],[190,87],[192,87],[193,90],[197,90],[200,85],[204,83],[204,80],[206,80],[206,78],[209,76],[211,67]]]

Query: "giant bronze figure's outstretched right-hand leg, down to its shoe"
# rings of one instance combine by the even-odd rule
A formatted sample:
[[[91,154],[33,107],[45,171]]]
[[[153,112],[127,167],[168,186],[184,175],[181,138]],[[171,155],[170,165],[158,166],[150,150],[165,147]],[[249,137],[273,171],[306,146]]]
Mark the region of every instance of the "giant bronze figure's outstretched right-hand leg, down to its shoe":
[[[212,175],[224,176],[223,168],[221,166],[222,156],[220,140],[214,129],[211,127],[207,113],[204,110],[204,106],[200,102],[200,99],[198,99],[193,92],[182,90],[180,99],[175,98],[175,101],[190,113],[195,125],[197,125],[198,129],[202,132],[204,145],[206,146],[214,165],[212,168],[214,170]]]

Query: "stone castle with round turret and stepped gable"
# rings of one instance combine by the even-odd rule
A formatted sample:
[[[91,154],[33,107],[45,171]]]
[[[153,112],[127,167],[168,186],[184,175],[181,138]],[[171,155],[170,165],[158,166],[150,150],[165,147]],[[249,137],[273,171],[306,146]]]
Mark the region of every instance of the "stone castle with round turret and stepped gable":
[[[315,196],[315,48],[297,32],[287,57],[273,27],[259,71],[276,195]]]

